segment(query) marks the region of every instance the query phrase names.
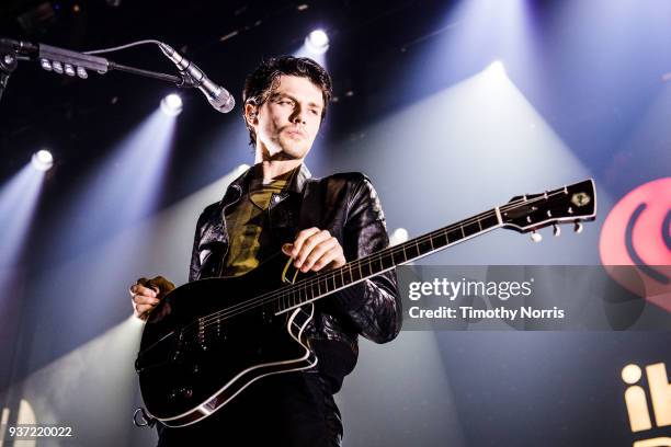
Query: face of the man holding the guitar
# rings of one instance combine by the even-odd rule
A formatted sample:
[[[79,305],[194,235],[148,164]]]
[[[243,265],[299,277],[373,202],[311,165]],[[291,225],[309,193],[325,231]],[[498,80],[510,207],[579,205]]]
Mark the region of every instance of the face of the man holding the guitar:
[[[323,111],[323,96],[319,87],[308,78],[282,74],[277,88],[252,115],[246,113],[257,133],[257,148],[264,158],[298,160],[312,147]]]

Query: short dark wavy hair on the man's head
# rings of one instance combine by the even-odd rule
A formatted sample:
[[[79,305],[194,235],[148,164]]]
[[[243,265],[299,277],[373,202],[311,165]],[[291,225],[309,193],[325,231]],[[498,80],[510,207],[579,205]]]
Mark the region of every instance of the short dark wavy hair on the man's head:
[[[321,121],[323,122],[332,95],[331,77],[323,67],[307,57],[280,56],[262,60],[244,80],[242,91],[244,105],[252,104],[255,107],[263,105],[277,88],[282,74],[307,78],[321,90],[323,98]],[[242,107],[242,116],[244,117],[244,107]],[[249,130],[249,144],[254,146],[257,133],[247,122],[247,117],[244,117],[244,124]]]

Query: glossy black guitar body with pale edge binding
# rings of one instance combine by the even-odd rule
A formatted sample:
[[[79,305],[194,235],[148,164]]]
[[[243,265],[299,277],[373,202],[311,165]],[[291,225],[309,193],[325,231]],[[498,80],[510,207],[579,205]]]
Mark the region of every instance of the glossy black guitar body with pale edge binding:
[[[272,301],[241,311],[242,302],[286,283],[287,261],[277,254],[242,276],[185,284],[152,310],[136,360],[152,417],[168,426],[190,425],[261,377],[317,364],[304,336],[312,303],[280,316]]]

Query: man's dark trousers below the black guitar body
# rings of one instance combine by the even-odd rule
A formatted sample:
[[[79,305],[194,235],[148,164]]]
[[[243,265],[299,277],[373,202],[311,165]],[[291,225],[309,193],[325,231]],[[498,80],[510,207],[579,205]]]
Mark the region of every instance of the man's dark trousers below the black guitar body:
[[[288,373],[259,379],[201,422],[158,432],[159,447],[336,447],[342,422],[319,374]]]

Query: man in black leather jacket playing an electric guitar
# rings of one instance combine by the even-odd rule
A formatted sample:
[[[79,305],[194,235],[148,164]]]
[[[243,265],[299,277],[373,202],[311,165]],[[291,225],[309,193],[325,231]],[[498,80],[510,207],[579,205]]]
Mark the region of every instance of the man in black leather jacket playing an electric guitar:
[[[263,61],[244,84],[244,123],[254,165],[201,215],[190,282],[244,275],[277,253],[302,273],[337,268],[388,245],[375,190],[361,173],[311,179],[304,159],[325,119],[331,80],[311,59]],[[147,320],[174,286],[163,277],[130,287]],[[195,297],[194,299],[197,299]],[[183,427],[158,424],[159,446],[340,446],[333,393],[356,364],[359,334],[386,343],[401,325],[394,271],[315,302],[305,332],[311,368],[254,381],[211,416]]]

